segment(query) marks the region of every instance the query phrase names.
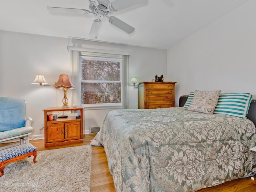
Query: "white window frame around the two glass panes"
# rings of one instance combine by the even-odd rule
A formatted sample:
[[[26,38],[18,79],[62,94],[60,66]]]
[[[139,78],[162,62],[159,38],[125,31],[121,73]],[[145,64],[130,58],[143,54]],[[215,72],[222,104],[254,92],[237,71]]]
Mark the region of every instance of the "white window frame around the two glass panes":
[[[116,62],[120,62],[120,81],[99,81],[99,80],[82,80],[82,60],[100,60],[100,61],[116,61]],[[124,103],[124,98],[123,98],[123,87],[124,87],[124,72],[123,72],[123,62],[122,62],[122,56],[119,55],[108,55],[108,54],[95,54],[94,56],[92,54],[83,54],[80,55],[80,83],[79,83],[79,101],[81,104],[81,100],[82,100],[82,93],[81,93],[81,84],[82,83],[90,83],[90,82],[95,82],[95,83],[120,83],[121,84],[121,102],[120,103],[100,103],[100,104],[81,104],[82,106],[84,106],[85,108],[98,108],[98,107],[122,107],[123,103]]]

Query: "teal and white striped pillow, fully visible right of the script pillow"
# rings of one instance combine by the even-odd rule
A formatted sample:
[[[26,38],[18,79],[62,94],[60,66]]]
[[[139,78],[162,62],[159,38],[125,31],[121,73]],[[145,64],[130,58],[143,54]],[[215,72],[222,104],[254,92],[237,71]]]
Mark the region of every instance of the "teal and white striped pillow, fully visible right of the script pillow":
[[[252,100],[250,93],[220,94],[214,114],[226,114],[246,118]]]

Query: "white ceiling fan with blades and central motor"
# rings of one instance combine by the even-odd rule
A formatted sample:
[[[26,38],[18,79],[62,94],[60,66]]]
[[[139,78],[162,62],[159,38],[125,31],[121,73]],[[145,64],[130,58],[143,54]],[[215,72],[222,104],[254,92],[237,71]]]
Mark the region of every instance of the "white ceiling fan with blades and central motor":
[[[134,6],[146,0],[115,0],[114,2],[109,2],[108,0],[88,0],[89,9],[76,9],[76,8],[63,8],[63,7],[47,7],[50,11],[61,11],[69,13],[78,13],[78,14],[94,14],[96,19],[92,23],[90,29],[90,36],[95,36],[97,39],[98,28],[101,24],[101,19],[104,17],[108,18],[108,21],[114,26],[120,28],[124,32],[131,34],[134,32],[135,28],[123,22],[122,20],[116,18],[115,16],[108,16],[111,12],[117,12],[125,8]]]

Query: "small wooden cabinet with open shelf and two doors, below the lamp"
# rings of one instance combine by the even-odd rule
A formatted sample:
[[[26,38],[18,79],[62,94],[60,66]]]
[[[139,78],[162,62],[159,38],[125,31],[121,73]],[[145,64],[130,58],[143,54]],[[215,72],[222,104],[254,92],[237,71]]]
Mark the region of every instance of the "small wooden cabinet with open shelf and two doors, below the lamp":
[[[44,109],[44,147],[83,142],[83,108]],[[67,118],[49,118],[52,114],[68,113]],[[76,116],[80,115],[80,119]],[[49,120],[50,119],[50,120]]]

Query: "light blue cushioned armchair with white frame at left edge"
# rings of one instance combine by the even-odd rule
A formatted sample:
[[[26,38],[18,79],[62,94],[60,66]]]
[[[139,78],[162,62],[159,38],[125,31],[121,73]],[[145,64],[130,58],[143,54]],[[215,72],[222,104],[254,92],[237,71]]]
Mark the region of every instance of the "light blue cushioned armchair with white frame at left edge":
[[[26,102],[17,97],[0,97],[0,143],[20,139],[20,142],[0,147],[0,150],[29,143],[32,118],[26,118]]]

